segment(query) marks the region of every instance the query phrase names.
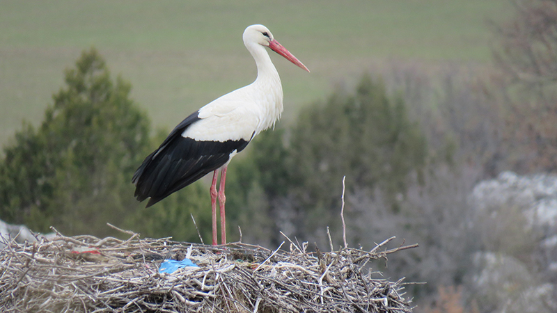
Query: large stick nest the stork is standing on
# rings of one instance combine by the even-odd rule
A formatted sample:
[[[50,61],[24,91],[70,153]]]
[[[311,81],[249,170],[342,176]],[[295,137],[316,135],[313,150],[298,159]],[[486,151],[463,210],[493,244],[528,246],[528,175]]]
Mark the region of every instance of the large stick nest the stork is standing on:
[[[405,283],[380,279],[370,260],[412,248],[308,252],[245,243],[205,246],[95,236],[4,239],[1,312],[411,312]],[[198,267],[160,273],[164,259]]]

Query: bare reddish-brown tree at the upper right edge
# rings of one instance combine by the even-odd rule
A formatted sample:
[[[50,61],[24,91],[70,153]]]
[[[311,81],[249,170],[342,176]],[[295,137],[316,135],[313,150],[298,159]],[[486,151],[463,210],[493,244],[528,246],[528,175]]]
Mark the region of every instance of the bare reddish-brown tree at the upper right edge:
[[[506,141],[518,172],[557,171],[557,0],[515,0],[496,26],[496,65],[508,109]]]

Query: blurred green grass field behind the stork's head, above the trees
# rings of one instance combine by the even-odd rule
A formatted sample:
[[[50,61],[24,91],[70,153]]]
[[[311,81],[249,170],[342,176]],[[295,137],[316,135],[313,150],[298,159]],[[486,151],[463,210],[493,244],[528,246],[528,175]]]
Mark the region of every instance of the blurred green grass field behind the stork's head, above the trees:
[[[0,145],[22,119],[40,122],[63,70],[91,46],[132,83],[155,125],[170,129],[255,79],[242,32],[265,24],[312,71],[272,55],[288,122],[372,65],[487,63],[487,20],[512,12],[505,0],[0,0],[0,8]]]

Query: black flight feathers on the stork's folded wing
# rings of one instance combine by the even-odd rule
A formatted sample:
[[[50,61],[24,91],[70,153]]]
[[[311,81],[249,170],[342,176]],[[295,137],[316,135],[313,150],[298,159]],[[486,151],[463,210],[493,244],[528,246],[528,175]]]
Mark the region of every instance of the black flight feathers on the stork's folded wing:
[[[217,170],[228,162],[230,153],[244,150],[249,143],[243,139],[219,142],[182,137],[185,129],[198,120],[196,112],[180,122],[136,170],[132,178],[135,196],[139,201],[150,197],[147,207]]]

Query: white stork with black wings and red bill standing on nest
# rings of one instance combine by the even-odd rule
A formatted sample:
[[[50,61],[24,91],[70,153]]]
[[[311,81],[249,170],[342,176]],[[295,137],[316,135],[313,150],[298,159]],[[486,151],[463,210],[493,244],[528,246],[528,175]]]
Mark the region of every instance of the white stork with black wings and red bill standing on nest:
[[[171,193],[213,173],[211,193],[212,244],[217,245],[217,195],[221,214],[221,242],[226,244],[224,184],[226,168],[254,136],[273,126],[283,111],[281,78],[265,47],[309,72],[263,25],[244,31],[244,45],[257,65],[257,79],[248,86],[227,93],[203,106],[180,122],[157,150],[136,170],[132,182],[135,196],[147,207]],[[221,182],[217,193],[217,175]]]

